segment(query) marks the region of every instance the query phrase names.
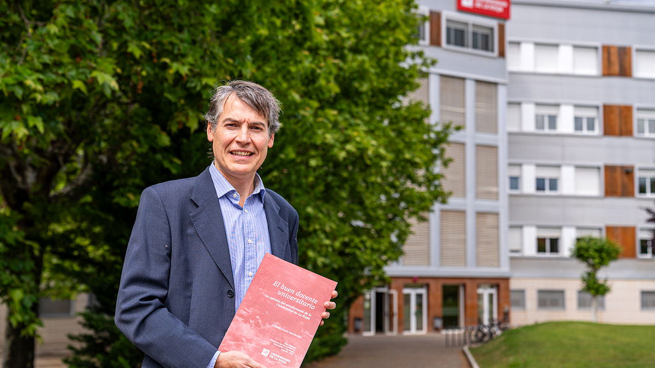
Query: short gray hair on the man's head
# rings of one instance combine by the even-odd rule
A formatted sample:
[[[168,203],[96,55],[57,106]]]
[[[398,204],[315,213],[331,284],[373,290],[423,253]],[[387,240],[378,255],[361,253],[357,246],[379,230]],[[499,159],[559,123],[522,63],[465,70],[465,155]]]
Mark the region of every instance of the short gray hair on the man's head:
[[[273,96],[271,91],[249,81],[229,81],[214,90],[214,96],[212,96],[209,103],[209,110],[205,114],[205,119],[212,126],[212,132],[216,130],[218,118],[223,112],[223,107],[225,107],[225,101],[232,94],[236,94],[239,100],[268,120],[269,136],[280,130],[282,126],[279,120],[280,101]]]

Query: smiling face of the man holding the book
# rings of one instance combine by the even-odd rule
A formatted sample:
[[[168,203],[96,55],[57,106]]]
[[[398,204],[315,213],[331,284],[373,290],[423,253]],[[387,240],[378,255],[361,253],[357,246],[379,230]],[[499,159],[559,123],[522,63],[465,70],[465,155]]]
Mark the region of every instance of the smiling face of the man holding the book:
[[[215,132],[207,124],[218,170],[234,185],[253,181],[255,172],[273,146],[267,119],[232,94],[225,101]],[[233,182],[234,180],[234,182]]]

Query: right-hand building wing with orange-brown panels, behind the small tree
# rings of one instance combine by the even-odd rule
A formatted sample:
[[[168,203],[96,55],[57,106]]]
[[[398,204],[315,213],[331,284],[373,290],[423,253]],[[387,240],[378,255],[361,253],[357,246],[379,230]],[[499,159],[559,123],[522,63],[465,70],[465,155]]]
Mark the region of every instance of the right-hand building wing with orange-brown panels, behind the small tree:
[[[623,249],[599,322],[655,323],[655,7],[512,1],[507,24],[512,323],[590,320],[576,239]]]

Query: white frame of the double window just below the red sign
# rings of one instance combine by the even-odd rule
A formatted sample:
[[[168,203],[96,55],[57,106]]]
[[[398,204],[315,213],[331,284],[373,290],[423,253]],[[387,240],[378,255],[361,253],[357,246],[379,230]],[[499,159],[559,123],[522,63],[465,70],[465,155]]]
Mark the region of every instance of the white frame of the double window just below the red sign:
[[[457,46],[448,43],[448,21],[464,23],[466,27],[466,46]],[[473,28],[474,26],[482,28],[491,29],[491,47],[492,50],[481,50],[479,48],[473,48]],[[463,52],[470,52],[472,54],[482,55],[482,56],[498,56],[498,23],[491,22],[485,18],[480,18],[478,16],[470,14],[462,14],[460,12],[452,12],[449,10],[444,10],[441,12],[441,47],[448,50],[457,50]]]

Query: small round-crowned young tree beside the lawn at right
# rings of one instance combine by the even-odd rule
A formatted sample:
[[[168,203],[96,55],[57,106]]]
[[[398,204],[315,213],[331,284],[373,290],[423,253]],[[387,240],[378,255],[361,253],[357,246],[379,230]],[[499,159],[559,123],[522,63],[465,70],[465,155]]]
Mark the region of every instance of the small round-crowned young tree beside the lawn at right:
[[[584,236],[578,239],[573,248],[573,257],[584,262],[587,270],[582,274],[582,291],[591,294],[591,314],[593,322],[598,320],[598,297],[610,292],[607,278],[598,280],[598,270],[618,259],[621,248],[607,238]]]

